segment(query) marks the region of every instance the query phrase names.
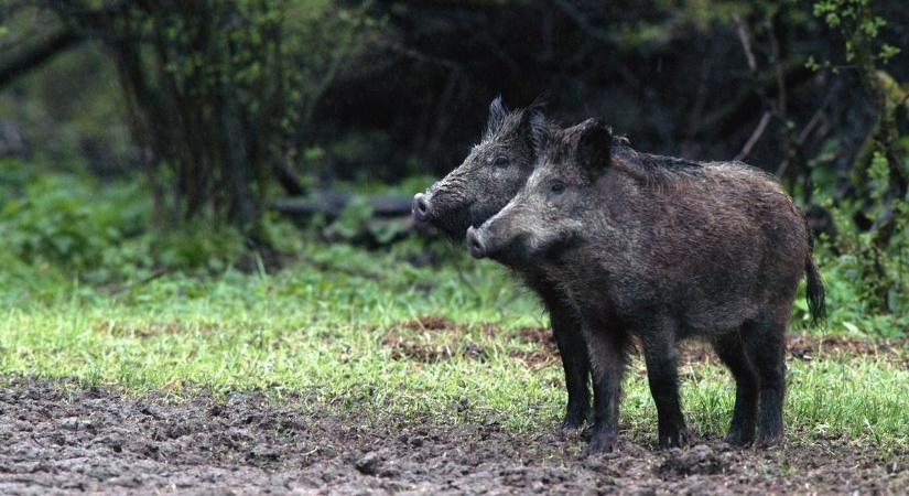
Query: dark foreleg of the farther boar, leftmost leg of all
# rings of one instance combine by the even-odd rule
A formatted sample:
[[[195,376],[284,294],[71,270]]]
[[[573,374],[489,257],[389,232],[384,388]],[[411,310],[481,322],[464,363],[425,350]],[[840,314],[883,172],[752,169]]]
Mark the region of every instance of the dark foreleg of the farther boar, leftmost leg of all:
[[[584,343],[584,335],[581,334],[577,315],[572,310],[556,298],[545,299],[545,304],[549,309],[552,333],[559,345],[559,354],[562,356],[565,387],[569,391],[569,405],[562,429],[577,429],[584,424],[591,410],[591,364],[587,345]]]

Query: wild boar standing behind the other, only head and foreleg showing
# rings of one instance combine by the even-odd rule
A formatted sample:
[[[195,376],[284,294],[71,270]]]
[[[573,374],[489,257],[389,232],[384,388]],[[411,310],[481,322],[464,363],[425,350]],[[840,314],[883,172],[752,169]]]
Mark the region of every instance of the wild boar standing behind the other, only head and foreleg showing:
[[[486,132],[464,163],[413,197],[414,218],[463,240],[469,226],[486,222],[518,193],[533,171],[538,151],[555,131],[539,103],[509,111],[496,98]],[[589,364],[578,321],[565,295],[538,270],[528,268],[519,274],[545,305],[562,355],[569,393],[562,427],[578,428],[591,408]]]

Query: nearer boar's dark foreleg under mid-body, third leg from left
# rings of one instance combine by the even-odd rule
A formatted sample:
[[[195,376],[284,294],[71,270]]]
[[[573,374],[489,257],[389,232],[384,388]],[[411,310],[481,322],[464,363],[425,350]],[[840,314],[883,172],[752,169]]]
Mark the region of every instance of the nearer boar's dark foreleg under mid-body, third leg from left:
[[[660,449],[688,443],[688,428],[679,399],[679,365],[675,352],[675,323],[656,319],[641,330],[647,380],[657,403],[658,445]]]

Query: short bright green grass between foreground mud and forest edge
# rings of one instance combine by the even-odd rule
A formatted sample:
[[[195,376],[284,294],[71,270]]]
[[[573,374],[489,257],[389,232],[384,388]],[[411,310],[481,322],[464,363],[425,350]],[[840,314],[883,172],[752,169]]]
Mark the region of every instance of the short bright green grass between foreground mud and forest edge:
[[[561,367],[529,365],[522,355],[540,345],[517,332],[545,325],[539,305],[493,262],[457,258],[419,268],[404,261],[418,251],[407,244],[390,254],[311,246],[274,274],[169,273],[117,292],[58,277],[43,287],[35,282],[40,268],[8,273],[0,298],[0,374],[75,378],[136,393],[261,389],[275,400],[303,393],[311,403],[338,409],[553,429],[564,401]],[[421,315],[459,325],[402,325]],[[394,358],[389,338],[451,356],[430,363]],[[789,366],[791,436],[909,442],[905,368],[873,357]],[[721,434],[733,402],[729,375],[716,365],[681,373],[692,427]],[[656,436],[639,359],[626,379],[623,425],[636,439]]]

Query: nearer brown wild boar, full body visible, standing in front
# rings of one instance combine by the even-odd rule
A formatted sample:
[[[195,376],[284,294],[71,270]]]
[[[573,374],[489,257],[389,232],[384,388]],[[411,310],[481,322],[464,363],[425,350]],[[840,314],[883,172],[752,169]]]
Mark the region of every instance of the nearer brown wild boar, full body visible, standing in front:
[[[782,435],[786,325],[802,274],[814,319],[821,278],[804,217],[769,175],[613,145],[587,120],[560,131],[524,187],[467,242],[475,257],[535,266],[581,315],[594,432],[613,450],[630,336],[641,343],[661,448],[686,442],[675,343],[708,339],[736,380],[727,440]]]

